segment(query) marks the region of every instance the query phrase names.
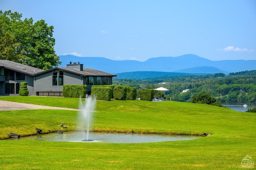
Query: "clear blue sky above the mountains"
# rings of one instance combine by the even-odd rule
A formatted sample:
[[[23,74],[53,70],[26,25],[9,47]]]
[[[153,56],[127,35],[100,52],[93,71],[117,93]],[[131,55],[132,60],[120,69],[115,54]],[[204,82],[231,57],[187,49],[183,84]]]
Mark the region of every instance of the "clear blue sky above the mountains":
[[[54,26],[57,55],[256,59],[255,0],[0,0]]]

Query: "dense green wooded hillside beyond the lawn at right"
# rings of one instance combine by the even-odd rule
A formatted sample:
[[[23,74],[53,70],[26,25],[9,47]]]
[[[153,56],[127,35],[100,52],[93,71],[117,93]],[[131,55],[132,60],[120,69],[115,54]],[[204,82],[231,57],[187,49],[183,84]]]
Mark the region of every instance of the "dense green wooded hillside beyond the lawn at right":
[[[136,87],[136,89],[165,87],[169,89],[165,92],[166,97],[172,97],[174,101],[191,102],[193,96],[199,93],[209,93],[221,102],[256,102],[255,70],[230,73],[229,75],[223,73],[200,76],[186,75],[175,79],[153,81],[114,79],[114,82],[119,85]],[[189,91],[181,93],[184,89],[189,89]]]

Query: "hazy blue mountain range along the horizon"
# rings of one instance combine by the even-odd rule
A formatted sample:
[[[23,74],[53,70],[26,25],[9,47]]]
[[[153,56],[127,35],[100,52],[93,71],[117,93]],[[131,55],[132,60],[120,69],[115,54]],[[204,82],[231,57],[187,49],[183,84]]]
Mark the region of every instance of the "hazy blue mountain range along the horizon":
[[[60,55],[61,65],[66,67],[70,62],[80,62],[84,68],[92,68],[107,73],[124,73],[134,71],[160,71],[176,73],[234,73],[256,70],[256,60],[221,60],[212,61],[194,54],[178,57],[154,57],[146,61],[112,60],[104,57],[77,57]]]

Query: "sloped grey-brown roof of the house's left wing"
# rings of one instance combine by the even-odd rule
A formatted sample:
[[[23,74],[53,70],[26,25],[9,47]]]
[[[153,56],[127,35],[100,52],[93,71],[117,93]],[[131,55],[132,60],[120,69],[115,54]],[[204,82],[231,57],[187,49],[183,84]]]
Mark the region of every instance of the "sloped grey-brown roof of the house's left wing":
[[[34,75],[36,73],[40,73],[44,70],[38,69],[36,67],[31,67],[28,65],[16,63],[9,60],[0,60],[0,67],[4,67],[13,71],[18,71],[20,73],[28,74],[28,75]]]

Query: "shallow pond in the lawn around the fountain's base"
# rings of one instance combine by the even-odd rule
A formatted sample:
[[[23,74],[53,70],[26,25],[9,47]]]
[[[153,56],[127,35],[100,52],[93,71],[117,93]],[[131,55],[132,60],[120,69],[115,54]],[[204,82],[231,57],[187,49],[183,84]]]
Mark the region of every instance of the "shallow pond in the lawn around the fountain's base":
[[[148,143],[164,142],[176,140],[192,140],[202,136],[188,135],[163,135],[163,134],[138,134],[138,133],[103,133],[90,132],[89,139],[93,141],[82,141],[86,139],[86,132],[63,132],[37,134],[20,138],[10,138],[10,140],[41,140],[58,142],[101,142],[101,143]]]

